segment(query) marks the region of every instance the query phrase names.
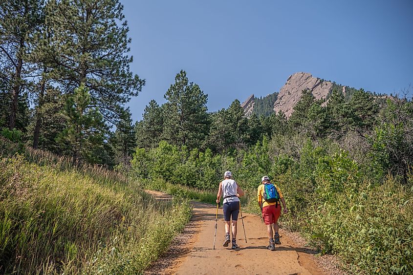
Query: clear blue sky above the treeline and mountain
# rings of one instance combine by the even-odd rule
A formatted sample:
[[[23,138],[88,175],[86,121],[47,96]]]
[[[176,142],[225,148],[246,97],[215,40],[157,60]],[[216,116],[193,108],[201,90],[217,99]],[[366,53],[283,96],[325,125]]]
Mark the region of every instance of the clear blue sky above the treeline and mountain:
[[[140,120],[179,70],[208,109],[278,91],[298,71],[394,93],[413,85],[412,0],[121,0],[131,70],[146,79],[130,101]]]

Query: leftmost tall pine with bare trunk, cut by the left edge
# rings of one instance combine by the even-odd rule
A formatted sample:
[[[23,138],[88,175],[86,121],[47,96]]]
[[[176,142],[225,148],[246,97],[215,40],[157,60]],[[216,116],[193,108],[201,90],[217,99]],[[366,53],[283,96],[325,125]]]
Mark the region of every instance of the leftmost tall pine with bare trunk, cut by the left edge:
[[[9,128],[16,126],[19,98],[26,86],[24,53],[28,38],[42,20],[43,0],[0,1],[0,52],[2,80],[10,89]]]

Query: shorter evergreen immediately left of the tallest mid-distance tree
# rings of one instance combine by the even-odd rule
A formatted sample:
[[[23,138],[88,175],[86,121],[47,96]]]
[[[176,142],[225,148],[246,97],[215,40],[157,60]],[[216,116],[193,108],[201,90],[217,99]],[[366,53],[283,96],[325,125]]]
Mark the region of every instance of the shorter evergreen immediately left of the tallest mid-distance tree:
[[[151,100],[145,107],[143,119],[135,124],[136,145],[139,148],[155,148],[162,138],[163,110]]]

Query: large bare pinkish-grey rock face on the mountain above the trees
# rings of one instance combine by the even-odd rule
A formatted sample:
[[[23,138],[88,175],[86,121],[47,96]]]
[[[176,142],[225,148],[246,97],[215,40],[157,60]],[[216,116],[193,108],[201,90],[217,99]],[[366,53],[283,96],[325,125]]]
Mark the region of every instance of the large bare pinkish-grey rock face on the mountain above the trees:
[[[316,99],[325,99],[332,88],[331,82],[315,78],[310,73],[295,73],[287,79],[285,85],[280,89],[274,103],[274,111],[276,113],[282,111],[286,117],[290,117],[293,107],[300,100],[304,89],[309,89]]]

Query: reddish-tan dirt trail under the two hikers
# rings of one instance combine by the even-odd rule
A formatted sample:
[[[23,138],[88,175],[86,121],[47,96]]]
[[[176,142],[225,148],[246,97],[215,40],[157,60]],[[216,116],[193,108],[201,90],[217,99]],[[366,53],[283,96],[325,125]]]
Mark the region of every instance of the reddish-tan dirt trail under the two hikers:
[[[162,193],[151,193],[166,198]],[[193,207],[190,224],[147,274],[325,274],[315,263],[311,255],[314,252],[296,245],[283,231],[280,231],[282,245],[277,245],[274,252],[269,251],[261,218],[248,213],[243,213],[247,243],[239,216],[240,249],[235,251],[222,246],[224,220],[222,208],[218,210],[217,242],[213,250],[216,208],[198,202],[193,202]]]

